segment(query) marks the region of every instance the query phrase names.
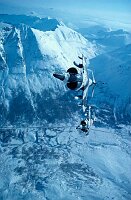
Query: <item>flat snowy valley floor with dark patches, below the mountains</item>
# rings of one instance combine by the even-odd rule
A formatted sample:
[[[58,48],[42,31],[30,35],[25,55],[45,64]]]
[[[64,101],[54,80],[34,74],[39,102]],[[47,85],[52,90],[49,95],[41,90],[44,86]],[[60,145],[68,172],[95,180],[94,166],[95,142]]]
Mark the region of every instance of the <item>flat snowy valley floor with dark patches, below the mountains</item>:
[[[74,125],[74,127],[72,126]],[[0,199],[131,199],[131,129],[75,123],[3,130],[0,135]]]

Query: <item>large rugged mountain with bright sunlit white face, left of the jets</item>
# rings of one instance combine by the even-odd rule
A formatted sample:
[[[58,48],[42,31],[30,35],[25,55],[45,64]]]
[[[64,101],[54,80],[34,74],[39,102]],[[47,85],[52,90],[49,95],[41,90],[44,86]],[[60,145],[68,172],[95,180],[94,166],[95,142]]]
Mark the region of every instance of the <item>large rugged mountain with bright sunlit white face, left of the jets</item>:
[[[16,121],[29,113],[47,117],[47,112],[53,119],[46,105],[53,105],[52,99],[57,101],[65,91],[53,72],[67,70],[82,53],[89,61],[96,46],[54,19],[0,15],[0,20],[1,119]],[[54,102],[52,109],[58,107]]]

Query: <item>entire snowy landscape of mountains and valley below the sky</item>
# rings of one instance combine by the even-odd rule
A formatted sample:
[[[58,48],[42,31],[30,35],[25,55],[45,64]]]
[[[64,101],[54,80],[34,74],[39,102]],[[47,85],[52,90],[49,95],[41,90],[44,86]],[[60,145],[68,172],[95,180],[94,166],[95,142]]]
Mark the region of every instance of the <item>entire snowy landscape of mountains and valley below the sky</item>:
[[[89,30],[0,15],[0,200],[131,199],[130,33]],[[52,76],[82,53],[97,81],[89,135]]]

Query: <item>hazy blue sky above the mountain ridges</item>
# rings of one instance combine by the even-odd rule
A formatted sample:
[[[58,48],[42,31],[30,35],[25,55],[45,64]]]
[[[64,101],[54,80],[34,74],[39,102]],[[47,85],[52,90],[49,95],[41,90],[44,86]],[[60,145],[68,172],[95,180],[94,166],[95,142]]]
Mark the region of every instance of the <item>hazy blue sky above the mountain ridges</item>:
[[[42,17],[50,16],[58,18],[65,23],[75,26],[86,26],[86,20],[90,16],[98,21],[106,20],[107,23],[115,21],[115,24],[130,23],[131,1],[129,0],[23,0],[23,1],[0,1],[0,13],[11,14],[34,14]],[[122,26],[122,24],[121,24]]]

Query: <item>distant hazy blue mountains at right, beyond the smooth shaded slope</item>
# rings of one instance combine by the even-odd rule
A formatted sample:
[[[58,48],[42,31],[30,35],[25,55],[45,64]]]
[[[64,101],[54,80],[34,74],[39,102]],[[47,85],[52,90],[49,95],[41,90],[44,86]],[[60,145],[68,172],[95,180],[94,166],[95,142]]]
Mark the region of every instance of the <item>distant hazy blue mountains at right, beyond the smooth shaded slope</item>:
[[[79,32],[103,52],[113,51],[131,43],[131,33],[123,29],[112,30],[100,25],[80,28]]]

